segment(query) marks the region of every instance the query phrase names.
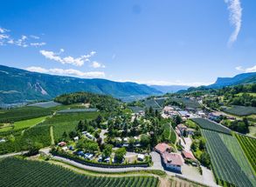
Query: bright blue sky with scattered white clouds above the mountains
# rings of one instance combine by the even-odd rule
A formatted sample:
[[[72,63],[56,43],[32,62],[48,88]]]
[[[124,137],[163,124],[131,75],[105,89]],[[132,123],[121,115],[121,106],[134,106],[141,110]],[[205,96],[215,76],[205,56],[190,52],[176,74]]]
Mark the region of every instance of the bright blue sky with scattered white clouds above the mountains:
[[[256,71],[253,0],[2,0],[0,64],[160,85]]]

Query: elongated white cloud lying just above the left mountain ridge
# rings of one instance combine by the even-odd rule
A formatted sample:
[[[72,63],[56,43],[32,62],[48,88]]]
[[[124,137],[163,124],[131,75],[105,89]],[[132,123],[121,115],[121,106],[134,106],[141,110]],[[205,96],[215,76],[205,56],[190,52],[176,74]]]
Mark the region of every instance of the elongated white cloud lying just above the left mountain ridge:
[[[102,71],[90,71],[90,72],[83,72],[80,70],[73,70],[73,69],[44,69],[41,67],[31,66],[26,68],[25,70],[38,72],[38,73],[50,73],[54,75],[62,75],[62,76],[74,76],[74,77],[105,77],[105,73]]]

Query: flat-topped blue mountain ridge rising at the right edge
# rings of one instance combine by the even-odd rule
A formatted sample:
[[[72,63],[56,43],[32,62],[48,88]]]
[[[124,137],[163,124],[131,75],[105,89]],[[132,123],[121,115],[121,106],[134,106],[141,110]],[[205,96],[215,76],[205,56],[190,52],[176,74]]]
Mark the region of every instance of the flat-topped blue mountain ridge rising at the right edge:
[[[225,86],[238,85],[240,83],[256,83],[256,72],[242,73],[235,77],[218,77],[217,81],[208,88],[222,88]]]

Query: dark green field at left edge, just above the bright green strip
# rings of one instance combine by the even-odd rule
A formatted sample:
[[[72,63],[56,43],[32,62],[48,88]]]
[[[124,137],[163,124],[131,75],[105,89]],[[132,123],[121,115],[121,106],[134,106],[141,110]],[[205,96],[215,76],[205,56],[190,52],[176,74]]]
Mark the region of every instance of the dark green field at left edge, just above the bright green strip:
[[[51,109],[40,107],[21,107],[11,110],[0,110],[0,123],[12,123],[26,119],[49,116],[53,113]]]

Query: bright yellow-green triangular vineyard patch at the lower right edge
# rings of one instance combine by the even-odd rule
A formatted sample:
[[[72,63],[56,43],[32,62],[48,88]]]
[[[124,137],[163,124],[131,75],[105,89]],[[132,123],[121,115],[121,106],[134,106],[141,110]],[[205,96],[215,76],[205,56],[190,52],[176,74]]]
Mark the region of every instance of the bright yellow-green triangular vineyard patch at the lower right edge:
[[[246,153],[246,157],[253,166],[254,174],[256,172],[256,139],[242,135],[235,135],[239,144]]]

